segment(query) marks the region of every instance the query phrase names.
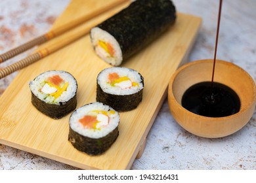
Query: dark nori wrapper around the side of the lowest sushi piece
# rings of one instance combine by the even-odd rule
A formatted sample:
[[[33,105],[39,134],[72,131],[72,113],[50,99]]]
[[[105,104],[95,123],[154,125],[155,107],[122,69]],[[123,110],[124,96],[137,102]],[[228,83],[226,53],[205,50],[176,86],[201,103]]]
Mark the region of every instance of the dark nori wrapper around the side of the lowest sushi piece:
[[[110,148],[110,146],[116,141],[118,135],[118,126],[108,133],[108,135],[100,137],[99,139],[92,139],[80,135],[70,127],[68,141],[70,141],[77,150],[85,152],[91,156],[95,156],[106,152],[106,150],[108,150],[108,148]]]

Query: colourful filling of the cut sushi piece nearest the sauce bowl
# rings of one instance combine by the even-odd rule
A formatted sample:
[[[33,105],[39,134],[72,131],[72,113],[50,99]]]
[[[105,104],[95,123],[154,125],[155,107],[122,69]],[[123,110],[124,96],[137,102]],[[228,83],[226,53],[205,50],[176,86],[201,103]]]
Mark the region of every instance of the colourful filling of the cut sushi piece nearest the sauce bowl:
[[[119,76],[117,73],[108,74],[108,80],[111,86],[118,86],[121,89],[131,88],[132,86],[139,86],[137,82],[132,82],[127,76]]]

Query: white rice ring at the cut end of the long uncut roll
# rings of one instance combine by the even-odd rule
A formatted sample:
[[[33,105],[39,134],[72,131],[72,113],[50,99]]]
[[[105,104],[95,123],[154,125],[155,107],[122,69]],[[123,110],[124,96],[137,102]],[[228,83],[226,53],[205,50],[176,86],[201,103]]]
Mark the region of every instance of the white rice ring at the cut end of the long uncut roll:
[[[115,50],[114,56],[110,56],[110,54],[108,54],[108,52],[106,52],[101,46],[98,46],[98,41],[110,42]],[[121,48],[119,43],[112,35],[110,35],[110,33],[100,29],[99,27],[94,27],[91,29],[91,42],[95,48],[96,54],[104,61],[114,66],[121,64],[123,60]]]

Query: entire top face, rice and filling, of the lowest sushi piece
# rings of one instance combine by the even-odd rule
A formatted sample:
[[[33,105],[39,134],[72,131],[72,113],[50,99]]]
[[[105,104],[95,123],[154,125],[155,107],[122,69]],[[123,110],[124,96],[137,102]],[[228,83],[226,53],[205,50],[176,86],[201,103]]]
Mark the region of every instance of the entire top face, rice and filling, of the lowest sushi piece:
[[[70,128],[84,137],[105,137],[119,125],[116,110],[102,103],[90,103],[77,108],[70,116]]]

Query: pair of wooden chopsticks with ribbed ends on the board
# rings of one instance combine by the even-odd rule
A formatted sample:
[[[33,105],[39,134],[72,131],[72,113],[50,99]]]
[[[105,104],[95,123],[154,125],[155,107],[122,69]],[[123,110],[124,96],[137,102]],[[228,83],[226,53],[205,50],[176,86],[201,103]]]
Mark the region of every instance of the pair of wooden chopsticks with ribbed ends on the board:
[[[78,18],[77,20],[74,20],[68,24],[62,25],[61,27],[58,27],[56,29],[53,29],[52,31],[49,31],[49,32],[45,33],[44,35],[41,35],[41,36],[33,39],[32,41],[26,42],[25,44],[22,44],[12,50],[9,50],[8,52],[5,52],[4,54],[0,55],[0,63],[3,63],[4,61],[7,61],[8,59],[28,50],[30,48],[33,48],[33,46],[37,46],[39,44],[43,44],[44,42],[50,41],[51,39],[54,39],[54,37],[62,35],[63,33],[70,31],[74,27],[77,27],[78,25],[81,25],[82,23],[87,22],[88,20],[91,20],[92,18],[95,18],[96,16],[98,16],[114,7],[117,7],[117,5],[121,5],[122,3],[127,3],[127,1],[128,0],[114,1],[113,3],[110,3],[110,5],[99,8],[98,10],[96,10],[95,12],[92,12],[91,14],[82,16],[81,18]],[[60,42],[60,44],[53,44],[53,45],[48,46],[47,48],[38,50],[37,52],[35,52],[32,55],[30,55],[24,59],[21,59],[20,61],[17,61],[16,63],[13,63],[12,65],[9,65],[3,69],[0,69],[0,79],[4,78],[5,76],[11,75],[11,73],[14,73],[15,71],[23,69],[24,67],[34,63],[35,61],[38,61],[39,59],[49,56],[56,50],[59,50],[60,48],[63,48],[64,46],[70,44],[71,42],[74,42],[77,39],[83,37],[84,35],[87,35],[87,33],[89,33],[90,29],[91,29],[91,27],[81,31],[80,33],[76,33],[75,35],[72,35],[72,37],[69,37],[69,39],[67,39],[66,41]]]

